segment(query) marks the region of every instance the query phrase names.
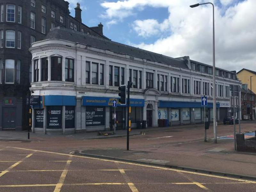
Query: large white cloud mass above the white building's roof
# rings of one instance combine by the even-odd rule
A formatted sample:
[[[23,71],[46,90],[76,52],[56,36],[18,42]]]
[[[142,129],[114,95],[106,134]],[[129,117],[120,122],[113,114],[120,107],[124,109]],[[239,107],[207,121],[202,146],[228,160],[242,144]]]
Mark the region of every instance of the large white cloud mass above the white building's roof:
[[[135,14],[138,8],[146,6],[168,8],[169,17],[163,23],[156,18],[136,20],[133,30],[143,37],[169,32],[166,38],[160,37],[153,44],[135,43],[152,52],[171,57],[189,55],[192,60],[207,64],[212,63],[212,6],[202,5],[190,8],[196,3],[191,0],[126,0],[116,3],[105,2],[105,16],[111,20],[120,20]],[[199,1],[200,2],[200,1]],[[202,0],[201,2],[206,2]],[[236,2],[236,4],[234,4]],[[222,0],[224,6],[215,6],[215,40],[216,66],[228,70],[250,68],[255,70],[256,64],[256,7],[255,0],[244,0],[240,3]],[[119,13],[125,13],[119,15]],[[224,14],[223,14],[224,12]]]

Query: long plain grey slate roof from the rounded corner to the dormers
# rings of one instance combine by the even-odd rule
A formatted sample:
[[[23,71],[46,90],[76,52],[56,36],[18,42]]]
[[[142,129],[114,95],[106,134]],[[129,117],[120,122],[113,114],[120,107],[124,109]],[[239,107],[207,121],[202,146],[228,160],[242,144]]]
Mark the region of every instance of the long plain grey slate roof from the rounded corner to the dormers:
[[[180,68],[188,68],[188,66],[182,60],[174,59],[154,52],[145,51],[143,49],[135,48],[125,44],[116,43],[114,41],[96,36],[83,34],[81,32],[76,32],[67,28],[54,28],[44,39],[63,39],[101,50],[109,50],[118,54],[129,55],[131,57],[177,66]]]

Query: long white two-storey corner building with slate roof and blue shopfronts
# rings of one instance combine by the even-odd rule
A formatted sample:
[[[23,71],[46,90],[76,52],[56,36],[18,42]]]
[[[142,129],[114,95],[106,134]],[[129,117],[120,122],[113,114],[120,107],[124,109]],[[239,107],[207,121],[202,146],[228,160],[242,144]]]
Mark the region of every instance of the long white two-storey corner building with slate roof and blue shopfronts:
[[[212,114],[212,66],[171,58],[65,28],[53,29],[43,41],[32,44],[35,132],[88,132],[112,128],[113,100],[118,87],[133,82],[132,127],[158,119],[171,125],[203,121],[201,96],[208,97]],[[216,69],[218,120],[228,115],[230,84],[240,85],[236,73]],[[125,106],[116,108],[117,128],[125,129]]]

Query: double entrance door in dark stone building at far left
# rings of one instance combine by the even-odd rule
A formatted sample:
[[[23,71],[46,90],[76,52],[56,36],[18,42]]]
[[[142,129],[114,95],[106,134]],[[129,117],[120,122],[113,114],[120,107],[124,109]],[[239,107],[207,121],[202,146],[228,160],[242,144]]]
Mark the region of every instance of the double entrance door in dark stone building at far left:
[[[2,125],[3,129],[15,128],[16,114],[15,108],[3,108]]]

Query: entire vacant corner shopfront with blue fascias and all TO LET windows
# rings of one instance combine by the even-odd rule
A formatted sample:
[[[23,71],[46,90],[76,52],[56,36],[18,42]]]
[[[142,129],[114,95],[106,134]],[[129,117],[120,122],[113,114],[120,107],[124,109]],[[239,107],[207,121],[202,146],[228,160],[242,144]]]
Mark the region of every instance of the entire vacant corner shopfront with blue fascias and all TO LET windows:
[[[32,106],[33,132],[91,132],[111,130],[115,97],[64,95],[41,96],[41,105]],[[131,99],[133,127],[143,118],[143,99]],[[117,104],[117,129],[125,129],[126,106]]]

